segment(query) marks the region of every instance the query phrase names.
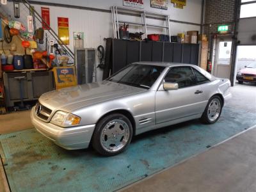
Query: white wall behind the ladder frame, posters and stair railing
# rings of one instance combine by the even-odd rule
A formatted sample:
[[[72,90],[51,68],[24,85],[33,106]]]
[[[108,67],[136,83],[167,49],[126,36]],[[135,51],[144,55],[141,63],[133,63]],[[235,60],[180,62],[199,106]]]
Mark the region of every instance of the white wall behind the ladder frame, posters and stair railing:
[[[42,1],[42,0],[38,0]],[[53,1],[53,0],[44,0],[42,2],[48,3],[61,3],[61,4],[70,4],[76,6],[86,6],[92,8],[100,8],[105,10],[110,10],[110,6],[122,6],[122,0],[76,0],[76,1]],[[173,4],[168,4],[168,10],[159,10],[156,8],[150,8],[150,0],[144,0],[145,10],[151,12],[159,12],[164,14],[169,14],[170,19],[172,20],[181,20],[185,22],[193,22],[200,24],[201,20],[201,0],[189,0],[187,5],[184,6],[184,9],[173,8]],[[38,13],[41,13],[41,7],[44,5],[33,4]],[[68,17],[69,19],[69,33],[70,33],[70,49],[74,50],[74,41],[73,41],[73,32],[81,31],[84,32],[84,47],[86,48],[97,48],[99,45],[105,45],[103,38],[113,37],[113,25],[111,13],[106,12],[96,12],[90,10],[74,9],[74,8],[65,8],[58,6],[44,6],[50,8],[50,22],[51,28],[58,33],[58,23],[57,17]],[[13,3],[8,1],[7,6],[3,6],[3,9],[6,13],[10,14],[13,17]],[[20,20],[26,26],[26,15],[28,15],[28,10],[24,8],[24,5],[20,3]],[[22,16],[23,15],[23,16]],[[25,16],[24,16],[25,15]],[[125,17],[125,18],[124,18]],[[121,19],[131,20],[131,21],[140,21],[139,17],[132,17],[127,15],[120,15]],[[161,20],[147,19],[147,22],[153,22],[154,24],[162,24]],[[41,27],[41,26],[36,26]],[[191,24],[180,24],[177,22],[170,22],[171,35],[177,35],[177,33],[183,33],[191,30],[200,30],[200,26],[195,26]],[[130,28],[129,31],[135,32],[140,31],[140,28]],[[148,28],[148,33],[164,33],[161,29],[157,28]],[[98,79],[102,79],[102,72],[99,70]]]

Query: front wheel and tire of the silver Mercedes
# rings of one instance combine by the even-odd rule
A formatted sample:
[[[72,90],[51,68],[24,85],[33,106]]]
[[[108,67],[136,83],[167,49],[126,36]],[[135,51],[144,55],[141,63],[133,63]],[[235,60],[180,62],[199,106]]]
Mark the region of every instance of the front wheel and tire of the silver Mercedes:
[[[103,156],[115,156],[127,148],[132,139],[132,124],[125,115],[113,113],[96,124],[92,147]]]

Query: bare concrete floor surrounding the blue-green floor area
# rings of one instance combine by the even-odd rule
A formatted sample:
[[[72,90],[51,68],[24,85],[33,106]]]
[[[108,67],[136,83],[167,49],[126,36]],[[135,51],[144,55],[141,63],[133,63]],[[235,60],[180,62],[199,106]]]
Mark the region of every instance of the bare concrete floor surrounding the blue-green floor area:
[[[227,107],[256,113],[256,86],[237,85]],[[29,111],[0,115],[0,134],[33,127]],[[141,180],[124,191],[256,191],[256,129]],[[0,192],[8,191],[0,163]],[[4,190],[6,189],[6,190]]]

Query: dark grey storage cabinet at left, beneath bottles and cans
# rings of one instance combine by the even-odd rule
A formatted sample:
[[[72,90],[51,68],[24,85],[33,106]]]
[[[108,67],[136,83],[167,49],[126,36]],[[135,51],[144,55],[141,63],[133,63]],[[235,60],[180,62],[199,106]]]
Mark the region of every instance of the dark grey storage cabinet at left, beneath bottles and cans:
[[[51,71],[3,72],[6,107],[20,102],[20,84],[15,77],[24,77],[21,81],[24,101],[37,100],[43,93],[54,90]]]

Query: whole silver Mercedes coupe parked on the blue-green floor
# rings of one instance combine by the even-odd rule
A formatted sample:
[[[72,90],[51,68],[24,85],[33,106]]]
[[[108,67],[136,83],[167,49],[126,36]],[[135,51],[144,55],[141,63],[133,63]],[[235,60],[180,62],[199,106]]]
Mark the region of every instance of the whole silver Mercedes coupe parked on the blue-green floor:
[[[31,120],[60,147],[113,156],[142,132],[195,118],[215,123],[230,97],[228,79],[195,65],[139,62],[99,83],[45,93]]]

